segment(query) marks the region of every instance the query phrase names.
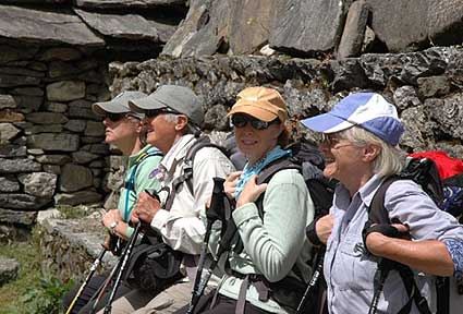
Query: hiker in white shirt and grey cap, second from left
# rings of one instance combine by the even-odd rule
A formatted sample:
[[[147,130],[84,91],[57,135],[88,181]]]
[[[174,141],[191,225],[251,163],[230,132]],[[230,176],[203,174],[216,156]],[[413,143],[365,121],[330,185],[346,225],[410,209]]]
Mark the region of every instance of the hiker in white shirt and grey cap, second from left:
[[[154,191],[160,202],[142,192],[131,220],[148,224],[166,244],[182,252],[181,270],[186,276],[157,291],[153,299],[134,290],[115,300],[111,313],[171,313],[190,300],[206,232],[205,204],[212,193],[212,178],[226,178],[234,168],[220,149],[211,146],[198,149],[191,162],[185,160],[203,138],[199,128],[204,123],[202,104],[190,88],[162,85],[147,97],[133,99],[130,106],[145,114],[146,141],[165,154],[156,173],[151,173],[161,184],[160,190]]]

